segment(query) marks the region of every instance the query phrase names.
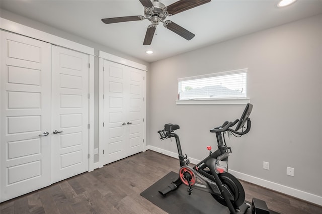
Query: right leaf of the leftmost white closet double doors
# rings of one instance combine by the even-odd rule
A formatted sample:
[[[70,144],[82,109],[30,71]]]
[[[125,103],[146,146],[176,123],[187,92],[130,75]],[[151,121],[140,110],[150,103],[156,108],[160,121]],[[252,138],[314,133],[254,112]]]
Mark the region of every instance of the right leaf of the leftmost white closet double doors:
[[[52,183],[88,171],[89,55],[52,47]]]

